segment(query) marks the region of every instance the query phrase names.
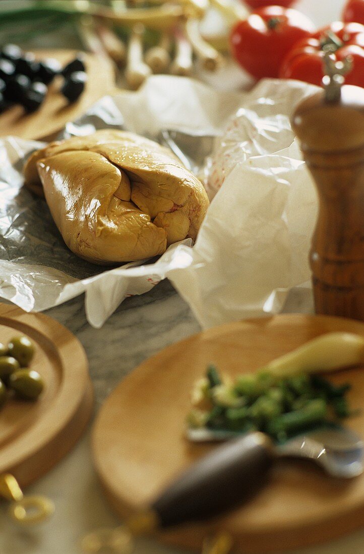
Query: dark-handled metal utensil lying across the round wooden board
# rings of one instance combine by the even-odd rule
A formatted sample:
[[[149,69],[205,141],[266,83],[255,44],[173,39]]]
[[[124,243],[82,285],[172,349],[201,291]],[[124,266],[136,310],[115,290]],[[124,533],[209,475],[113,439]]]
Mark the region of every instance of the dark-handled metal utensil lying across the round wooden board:
[[[189,430],[190,440],[223,440],[231,433]],[[229,439],[191,465],[150,504],[127,521],[133,534],[156,528],[202,521],[222,514],[263,485],[275,458],[306,458],[337,478],[351,479],[363,472],[364,445],[359,435],[340,425],[319,427],[274,444],[255,432]]]

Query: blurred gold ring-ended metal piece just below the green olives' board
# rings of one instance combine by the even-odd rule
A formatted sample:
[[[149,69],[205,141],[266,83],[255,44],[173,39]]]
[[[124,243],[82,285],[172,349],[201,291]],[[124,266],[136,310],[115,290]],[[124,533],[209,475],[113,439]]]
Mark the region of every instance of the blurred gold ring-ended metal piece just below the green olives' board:
[[[9,516],[21,525],[38,524],[54,512],[52,500],[41,495],[24,496],[18,481],[9,473],[0,475],[0,496],[12,501]]]

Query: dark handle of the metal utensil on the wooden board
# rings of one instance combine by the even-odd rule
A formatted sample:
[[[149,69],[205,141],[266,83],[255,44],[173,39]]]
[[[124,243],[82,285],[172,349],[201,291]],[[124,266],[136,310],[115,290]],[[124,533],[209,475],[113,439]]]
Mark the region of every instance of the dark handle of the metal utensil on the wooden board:
[[[194,464],[151,506],[161,527],[213,517],[263,483],[272,463],[271,441],[262,433],[231,440]]]

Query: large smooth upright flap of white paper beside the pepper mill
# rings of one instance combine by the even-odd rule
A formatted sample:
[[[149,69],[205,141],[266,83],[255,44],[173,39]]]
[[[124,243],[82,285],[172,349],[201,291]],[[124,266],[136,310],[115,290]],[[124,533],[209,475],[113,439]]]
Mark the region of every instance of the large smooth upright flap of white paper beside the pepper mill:
[[[277,313],[290,289],[310,279],[316,195],[299,149],[287,150],[235,166],[211,203],[188,270],[168,275],[203,327]]]

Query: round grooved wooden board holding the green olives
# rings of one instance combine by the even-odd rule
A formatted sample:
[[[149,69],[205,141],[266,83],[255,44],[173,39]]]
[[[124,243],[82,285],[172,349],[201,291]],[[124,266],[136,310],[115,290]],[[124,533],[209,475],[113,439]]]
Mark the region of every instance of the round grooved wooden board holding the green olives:
[[[92,412],[88,362],[77,338],[57,321],[0,304],[0,342],[26,335],[31,368],[46,388],[37,402],[9,400],[0,411],[0,474],[24,486],[46,473],[77,442]]]

